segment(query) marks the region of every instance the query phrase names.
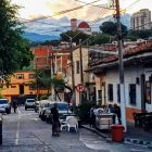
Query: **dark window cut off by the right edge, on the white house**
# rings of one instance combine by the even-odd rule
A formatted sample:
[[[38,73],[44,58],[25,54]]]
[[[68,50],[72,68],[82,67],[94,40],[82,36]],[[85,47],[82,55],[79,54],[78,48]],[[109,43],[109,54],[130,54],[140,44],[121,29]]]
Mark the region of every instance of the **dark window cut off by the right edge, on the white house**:
[[[151,104],[151,83],[145,81],[145,102]]]

